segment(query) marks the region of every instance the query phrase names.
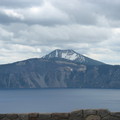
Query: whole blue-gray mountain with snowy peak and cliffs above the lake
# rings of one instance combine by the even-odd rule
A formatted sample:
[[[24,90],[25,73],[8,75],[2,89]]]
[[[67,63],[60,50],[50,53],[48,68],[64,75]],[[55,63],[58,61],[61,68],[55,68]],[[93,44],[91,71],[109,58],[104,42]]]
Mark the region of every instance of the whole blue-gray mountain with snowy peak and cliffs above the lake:
[[[120,66],[73,50],[55,50],[42,58],[0,65],[0,88],[120,88]]]

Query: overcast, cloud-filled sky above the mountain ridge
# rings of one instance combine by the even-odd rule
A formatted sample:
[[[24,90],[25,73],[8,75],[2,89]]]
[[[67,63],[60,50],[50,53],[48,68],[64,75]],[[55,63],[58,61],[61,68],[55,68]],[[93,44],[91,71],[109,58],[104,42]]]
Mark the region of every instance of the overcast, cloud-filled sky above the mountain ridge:
[[[73,49],[120,64],[120,0],[0,0],[0,64]]]

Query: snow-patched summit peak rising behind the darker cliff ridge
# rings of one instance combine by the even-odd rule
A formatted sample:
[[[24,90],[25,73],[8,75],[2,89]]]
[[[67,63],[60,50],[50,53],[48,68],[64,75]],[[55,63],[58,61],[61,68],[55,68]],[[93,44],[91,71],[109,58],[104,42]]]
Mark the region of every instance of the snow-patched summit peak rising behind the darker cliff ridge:
[[[54,51],[52,51],[51,53],[49,53],[48,55],[44,56],[43,58],[46,59],[51,59],[51,58],[63,58],[63,59],[67,59],[67,60],[71,60],[74,62],[78,62],[78,63],[82,63],[82,64],[103,64],[99,61],[90,59],[88,57],[85,57],[77,52],[75,52],[74,50],[68,49],[68,50],[60,50],[60,49],[56,49]]]

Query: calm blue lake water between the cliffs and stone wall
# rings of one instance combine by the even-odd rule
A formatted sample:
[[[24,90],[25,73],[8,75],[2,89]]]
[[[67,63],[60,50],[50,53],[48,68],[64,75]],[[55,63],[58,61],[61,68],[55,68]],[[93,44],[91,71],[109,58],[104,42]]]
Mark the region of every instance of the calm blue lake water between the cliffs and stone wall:
[[[111,111],[120,111],[120,90],[0,90],[0,113],[71,112],[88,108],[107,108]]]

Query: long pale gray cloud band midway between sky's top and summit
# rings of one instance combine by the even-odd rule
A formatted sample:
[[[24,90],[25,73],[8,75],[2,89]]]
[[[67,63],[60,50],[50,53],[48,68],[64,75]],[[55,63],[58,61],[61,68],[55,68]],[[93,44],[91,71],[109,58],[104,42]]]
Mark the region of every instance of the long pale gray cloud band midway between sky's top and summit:
[[[21,25],[21,24],[20,24]],[[20,26],[18,24],[18,26]],[[14,26],[14,24],[13,24]],[[23,24],[24,26],[24,24]],[[109,39],[109,34],[112,32],[108,28],[97,28],[95,26],[82,26],[82,25],[59,25],[44,27],[41,25],[24,26],[25,28],[16,28],[13,31],[14,37],[10,42],[16,44],[28,44],[31,46],[36,45],[52,45],[60,46],[61,44],[74,44],[74,43],[87,43],[96,44]],[[15,28],[10,26],[10,28]],[[19,30],[18,30],[19,28]],[[8,29],[8,28],[5,28]],[[12,31],[10,29],[10,31]]]

